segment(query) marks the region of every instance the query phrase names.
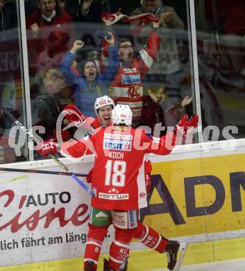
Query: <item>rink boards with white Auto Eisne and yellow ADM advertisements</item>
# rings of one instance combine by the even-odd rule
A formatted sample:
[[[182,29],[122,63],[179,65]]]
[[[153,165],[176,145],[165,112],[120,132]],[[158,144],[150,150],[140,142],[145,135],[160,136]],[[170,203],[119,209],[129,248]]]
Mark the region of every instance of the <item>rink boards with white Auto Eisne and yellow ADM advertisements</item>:
[[[201,154],[196,151],[194,157]],[[244,154],[187,157],[178,151],[166,158],[151,157],[153,183],[149,207],[141,212],[144,224],[167,238],[194,243],[189,245],[187,264],[219,260],[222,256],[242,258],[243,253],[239,249],[244,252],[244,240],[240,242],[237,239],[237,252],[231,252],[226,242],[234,245],[235,240],[222,239],[239,238],[245,233]],[[74,172],[86,173],[93,165],[92,156],[79,165],[66,159],[63,161]],[[13,167],[13,164],[8,167]],[[60,170],[53,161],[18,163],[15,167]],[[4,255],[0,266],[35,263],[28,265],[28,270],[63,270],[67,263],[67,270],[79,270],[90,206],[86,192],[69,176],[20,172],[1,172],[0,176],[0,250]],[[112,238],[110,229],[103,244],[103,253],[108,252]],[[208,244],[210,249],[207,249]],[[214,250],[216,245],[221,247],[220,255],[219,250]],[[194,246],[201,250],[204,246],[205,256],[195,254],[197,247],[192,253]],[[148,255],[149,268],[158,268],[158,257],[162,259],[164,256],[138,249],[143,247],[134,243],[130,264],[134,265],[134,258],[138,264],[138,257],[143,255],[143,260]],[[165,258],[160,261],[159,268],[164,266],[164,262]],[[146,268],[146,262],[143,263]],[[56,265],[62,265],[62,268],[56,269]],[[18,266],[8,270],[25,270],[23,268]],[[135,268],[132,270],[142,270]]]

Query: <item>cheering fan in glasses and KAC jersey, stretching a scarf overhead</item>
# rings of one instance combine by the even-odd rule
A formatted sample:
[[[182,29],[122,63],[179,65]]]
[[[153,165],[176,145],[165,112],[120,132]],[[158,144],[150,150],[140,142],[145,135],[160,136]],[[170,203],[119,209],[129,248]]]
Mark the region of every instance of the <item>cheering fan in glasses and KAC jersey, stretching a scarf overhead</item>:
[[[134,56],[133,41],[128,37],[121,37],[118,41],[119,50],[119,69],[110,85],[110,97],[115,104],[128,104],[133,111],[133,124],[136,128],[141,125],[143,108],[143,79],[149,72],[153,60],[158,52],[161,40],[159,33],[159,19],[151,13],[137,16],[137,18],[126,17],[120,13],[109,14],[102,13],[101,19],[105,26],[115,24],[116,22],[131,22],[131,19],[151,19],[153,29],[149,34],[146,47],[140,50],[140,56]],[[108,65],[107,44],[104,39],[102,42],[102,54],[100,60],[101,70]]]

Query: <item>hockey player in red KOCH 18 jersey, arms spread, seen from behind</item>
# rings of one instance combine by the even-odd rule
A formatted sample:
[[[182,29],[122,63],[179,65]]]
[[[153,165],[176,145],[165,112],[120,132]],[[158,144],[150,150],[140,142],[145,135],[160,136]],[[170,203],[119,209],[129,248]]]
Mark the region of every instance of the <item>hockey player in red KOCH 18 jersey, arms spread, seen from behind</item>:
[[[108,214],[115,227],[115,240],[110,246],[110,259],[105,261],[104,270],[119,270],[124,259],[129,254],[130,240],[138,231],[144,233],[140,240],[148,247],[167,254],[168,268],[173,270],[177,262],[180,244],[160,236],[155,231],[142,225],[138,227],[137,210],[146,206],[146,186],[144,185],[144,156],[154,153],[166,155],[176,144],[176,134],[187,133],[187,128],[197,124],[198,117],[194,115],[188,121],[185,115],[175,127],[174,133],[167,133],[161,138],[152,138],[144,130],[131,129],[132,112],[126,105],[117,105],[112,111],[112,126],[101,129],[90,138],[76,142],[44,142],[39,153],[47,155],[60,153],[64,156],[81,157],[84,154],[95,154],[94,172],[92,174],[92,212],[90,224],[94,225],[94,236],[97,240],[103,227],[96,217]],[[190,131],[190,129],[188,129]],[[142,183],[143,182],[143,183]],[[99,228],[99,229],[98,229]],[[150,245],[149,245],[150,244]],[[99,243],[88,242],[91,249],[98,252]],[[97,245],[94,249],[94,245]],[[96,270],[93,266],[87,270]]]

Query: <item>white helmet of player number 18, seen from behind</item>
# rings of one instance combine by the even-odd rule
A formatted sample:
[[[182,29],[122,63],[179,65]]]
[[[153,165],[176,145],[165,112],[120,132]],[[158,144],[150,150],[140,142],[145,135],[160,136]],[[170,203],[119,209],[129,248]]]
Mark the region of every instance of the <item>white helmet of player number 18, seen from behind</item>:
[[[131,126],[133,113],[127,104],[117,104],[112,110],[112,124]]]

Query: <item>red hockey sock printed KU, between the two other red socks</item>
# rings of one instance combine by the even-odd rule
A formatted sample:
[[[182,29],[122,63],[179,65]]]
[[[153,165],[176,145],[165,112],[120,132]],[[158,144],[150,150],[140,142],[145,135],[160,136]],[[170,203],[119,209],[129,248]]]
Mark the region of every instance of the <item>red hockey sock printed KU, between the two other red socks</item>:
[[[120,243],[117,240],[113,241],[110,245],[110,258],[108,265],[114,270],[119,270],[121,263],[124,262],[124,258],[127,258],[129,254],[129,243]]]

